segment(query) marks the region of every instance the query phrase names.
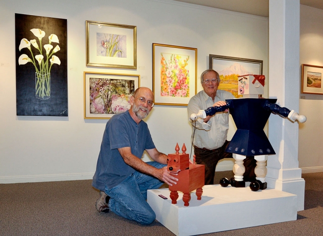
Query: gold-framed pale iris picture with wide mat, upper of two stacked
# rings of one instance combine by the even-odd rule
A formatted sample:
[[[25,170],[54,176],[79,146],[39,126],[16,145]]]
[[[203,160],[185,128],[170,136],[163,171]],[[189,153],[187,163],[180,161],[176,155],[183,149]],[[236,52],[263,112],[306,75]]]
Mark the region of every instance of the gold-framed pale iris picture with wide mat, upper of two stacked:
[[[137,69],[137,26],[86,21],[86,66]]]

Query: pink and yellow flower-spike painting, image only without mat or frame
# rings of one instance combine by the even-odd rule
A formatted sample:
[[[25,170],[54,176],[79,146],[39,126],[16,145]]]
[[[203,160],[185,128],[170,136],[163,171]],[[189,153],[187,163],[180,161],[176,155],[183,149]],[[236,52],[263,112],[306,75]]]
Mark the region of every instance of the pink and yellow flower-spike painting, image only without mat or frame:
[[[189,58],[189,55],[160,53],[160,96],[190,96]]]

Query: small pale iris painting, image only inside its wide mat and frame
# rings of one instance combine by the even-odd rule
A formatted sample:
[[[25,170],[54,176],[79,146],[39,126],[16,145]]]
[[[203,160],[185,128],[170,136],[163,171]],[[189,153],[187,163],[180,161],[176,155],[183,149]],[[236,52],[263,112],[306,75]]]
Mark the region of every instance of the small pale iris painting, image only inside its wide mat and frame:
[[[96,55],[127,57],[127,36],[96,33]]]

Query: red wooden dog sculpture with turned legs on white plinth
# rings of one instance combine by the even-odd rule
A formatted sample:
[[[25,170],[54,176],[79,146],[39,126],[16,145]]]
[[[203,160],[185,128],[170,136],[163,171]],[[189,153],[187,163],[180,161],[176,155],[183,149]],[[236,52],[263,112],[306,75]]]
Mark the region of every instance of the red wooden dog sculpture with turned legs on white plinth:
[[[174,154],[168,154],[168,165],[167,168],[170,172],[177,173],[178,182],[176,185],[169,186],[171,191],[170,198],[172,199],[172,204],[177,203],[178,193],[177,191],[183,192],[184,206],[189,205],[191,200],[191,194],[193,190],[196,190],[197,200],[201,200],[203,193],[202,187],[204,186],[204,165],[190,164],[189,155],[185,153],[186,147],[183,144],[182,151],[179,153],[179,146],[176,144]]]

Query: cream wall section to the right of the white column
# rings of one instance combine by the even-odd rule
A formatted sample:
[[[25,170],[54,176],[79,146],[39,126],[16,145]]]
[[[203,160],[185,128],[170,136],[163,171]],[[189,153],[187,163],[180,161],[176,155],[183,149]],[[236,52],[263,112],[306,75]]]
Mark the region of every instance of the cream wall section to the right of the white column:
[[[301,5],[300,65],[323,66],[323,10]],[[301,70],[301,68],[300,68]],[[302,172],[323,171],[323,97],[301,94],[299,111],[307,122],[299,125],[298,161]],[[305,99],[303,99],[305,98]]]

